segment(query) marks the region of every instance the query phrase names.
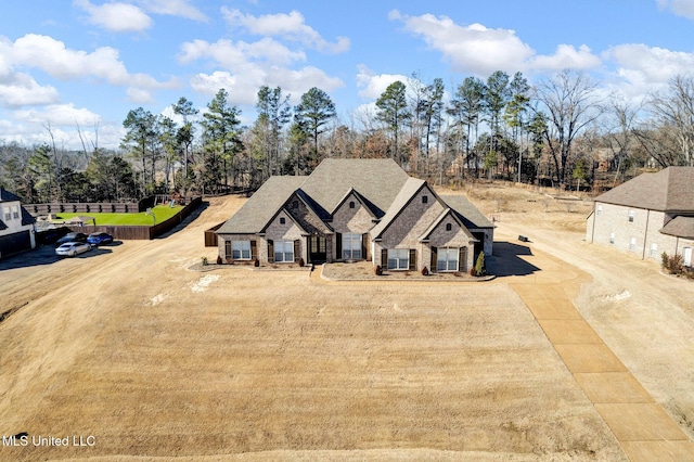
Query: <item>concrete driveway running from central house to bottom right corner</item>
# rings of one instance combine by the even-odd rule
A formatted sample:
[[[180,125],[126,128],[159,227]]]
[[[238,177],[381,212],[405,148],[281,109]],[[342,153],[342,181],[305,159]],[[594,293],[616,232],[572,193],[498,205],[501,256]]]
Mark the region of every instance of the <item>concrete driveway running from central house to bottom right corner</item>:
[[[511,246],[506,249],[517,251]],[[634,462],[694,461],[694,444],[570,301],[578,295],[580,285],[589,281],[588,274],[536,251],[513,254],[499,257],[504,262],[507,257],[516,258],[518,269],[526,266],[538,271],[522,271],[523,277],[510,279],[510,286],[528,306],[629,459]]]

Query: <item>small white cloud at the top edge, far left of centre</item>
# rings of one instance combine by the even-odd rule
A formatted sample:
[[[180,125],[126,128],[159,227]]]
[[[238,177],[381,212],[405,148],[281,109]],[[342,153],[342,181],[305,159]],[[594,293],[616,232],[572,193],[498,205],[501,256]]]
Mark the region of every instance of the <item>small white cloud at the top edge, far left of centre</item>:
[[[89,14],[89,22],[114,33],[141,33],[152,27],[152,18],[139,7],[112,2],[93,5],[89,0],[74,0]]]

